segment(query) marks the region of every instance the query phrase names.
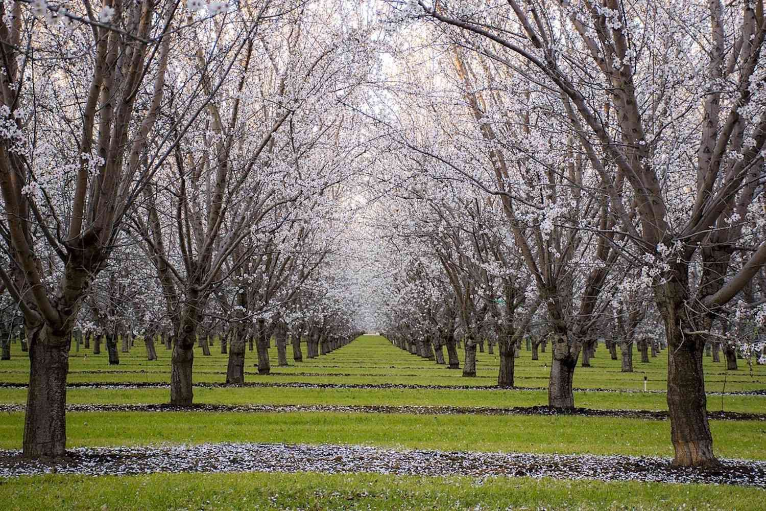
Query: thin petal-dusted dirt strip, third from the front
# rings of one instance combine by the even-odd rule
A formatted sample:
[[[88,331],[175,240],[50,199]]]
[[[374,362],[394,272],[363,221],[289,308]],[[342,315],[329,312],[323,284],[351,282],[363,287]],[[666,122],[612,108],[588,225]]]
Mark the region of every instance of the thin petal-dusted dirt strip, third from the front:
[[[169,383],[157,382],[77,382],[67,383],[67,388],[169,388]],[[354,383],[301,383],[301,382],[247,382],[239,385],[225,383],[195,383],[195,388],[361,388],[361,389],[408,389],[408,390],[480,390],[480,391],[546,391],[547,387],[499,387],[497,385],[415,385],[415,384],[354,384]],[[0,382],[0,388],[27,388],[26,383]],[[628,388],[574,388],[575,392],[610,392],[616,394],[665,394],[663,390],[641,391]],[[755,391],[706,392],[707,395],[766,396],[766,388]]]

